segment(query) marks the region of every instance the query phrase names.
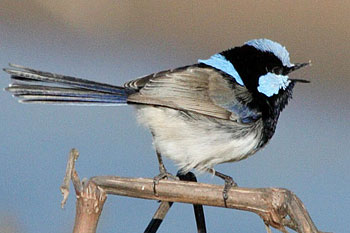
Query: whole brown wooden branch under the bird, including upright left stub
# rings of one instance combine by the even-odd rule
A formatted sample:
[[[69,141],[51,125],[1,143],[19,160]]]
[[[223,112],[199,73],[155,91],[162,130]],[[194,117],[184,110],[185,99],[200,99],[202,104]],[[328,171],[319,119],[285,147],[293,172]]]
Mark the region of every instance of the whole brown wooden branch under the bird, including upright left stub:
[[[154,194],[153,179],[97,176],[90,178],[87,185],[84,185],[80,183],[74,168],[76,158],[77,155],[74,156],[71,152],[64,183],[61,186],[66,198],[69,192],[66,183],[68,176],[74,183],[78,197],[74,233],[96,231],[106,194],[225,207],[222,198],[223,186],[219,185],[160,180],[157,185],[157,195]],[[258,214],[263,219],[268,232],[271,232],[269,226],[272,226],[282,232],[287,232],[286,227],[288,227],[300,233],[320,233],[303,203],[287,189],[231,188],[228,192],[226,207]]]

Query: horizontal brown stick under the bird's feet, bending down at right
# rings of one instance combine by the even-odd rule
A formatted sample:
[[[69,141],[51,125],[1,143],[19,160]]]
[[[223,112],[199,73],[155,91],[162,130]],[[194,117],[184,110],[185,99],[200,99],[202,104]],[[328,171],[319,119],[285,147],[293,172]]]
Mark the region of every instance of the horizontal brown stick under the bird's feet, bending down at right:
[[[157,186],[158,196],[155,196],[152,179],[99,176],[90,180],[107,194],[224,207],[222,186],[219,185],[161,180]],[[266,225],[282,232],[287,232],[285,227],[303,233],[319,232],[301,201],[289,190],[231,188],[228,194],[227,208],[254,212]]]

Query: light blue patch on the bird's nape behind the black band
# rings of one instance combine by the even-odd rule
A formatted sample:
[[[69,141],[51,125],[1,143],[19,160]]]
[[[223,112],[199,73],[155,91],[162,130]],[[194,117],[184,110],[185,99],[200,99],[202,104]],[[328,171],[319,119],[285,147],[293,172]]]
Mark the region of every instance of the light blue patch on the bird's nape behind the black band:
[[[198,60],[198,62],[214,67],[225,72],[226,74],[231,75],[239,85],[244,86],[241,76],[239,76],[235,67],[221,54],[217,53],[207,60]]]

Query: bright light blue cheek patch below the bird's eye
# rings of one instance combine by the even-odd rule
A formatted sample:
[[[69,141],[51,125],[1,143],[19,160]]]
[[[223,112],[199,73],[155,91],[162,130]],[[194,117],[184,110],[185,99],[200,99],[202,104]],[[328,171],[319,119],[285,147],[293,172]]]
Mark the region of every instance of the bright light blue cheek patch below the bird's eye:
[[[258,91],[267,97],[278,94],[280,89],[285,90],[289,85],[288,76],[267,73],[259,78]]]

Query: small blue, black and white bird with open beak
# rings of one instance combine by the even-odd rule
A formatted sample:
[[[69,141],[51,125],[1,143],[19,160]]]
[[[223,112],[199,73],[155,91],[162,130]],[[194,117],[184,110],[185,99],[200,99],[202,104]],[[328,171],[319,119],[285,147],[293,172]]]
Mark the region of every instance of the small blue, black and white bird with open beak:
[[[214,166],[249,157],[273,136],[281,111],[295,83],[288,74],[308,63],[290,62],[285,47],[254,39],[209,59],[147,75],[114,86],[11,65],[14,81],[7,91],[22,103],[133,105],[138,120],[152,135],[159,161],[159,179],[171,177],[161,156],[182,173],[211,172],[236,185]]]

